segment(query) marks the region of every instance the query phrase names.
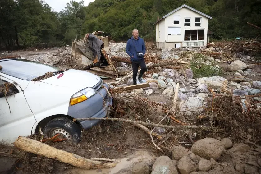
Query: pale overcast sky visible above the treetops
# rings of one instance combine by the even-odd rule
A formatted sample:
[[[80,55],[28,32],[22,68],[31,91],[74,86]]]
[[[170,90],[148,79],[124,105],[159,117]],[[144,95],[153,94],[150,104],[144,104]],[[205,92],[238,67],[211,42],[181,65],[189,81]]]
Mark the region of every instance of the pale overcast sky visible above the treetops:
[[[80,2],[81,0],[75,0]],[[44,2],[48,3],[50,7],[53,8],[53,11],[61,11],[66,7],[67,2],[70,3],[70,0],[44,0]],[[83,0],[84,5],[88,6],[90,2],[94,2],[94,0]]]

